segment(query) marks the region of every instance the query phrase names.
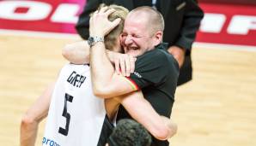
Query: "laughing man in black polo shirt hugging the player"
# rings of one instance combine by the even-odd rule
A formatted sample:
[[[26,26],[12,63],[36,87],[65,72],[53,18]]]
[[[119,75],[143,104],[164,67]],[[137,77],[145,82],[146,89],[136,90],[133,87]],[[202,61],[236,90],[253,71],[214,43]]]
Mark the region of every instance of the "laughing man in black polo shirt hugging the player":
[[[111,97],[142,90],[156,112],[169,117],[174,103],[179,65],[162,44],[162,15],[150,7],[140,7],[126,17],[121,44],[126,54],[137,56],[135,72],[126,78],[114,73],[106,55],[103,38],[119,24],[119,19],[113,22],[107,20],[113,10],[106,10],[101,9],[90,20],[90,65],[94,94]],[[128,117],[124,108],[119,109],[118,117]],[[152,145],[165,146],[168,141],[153,138]]]

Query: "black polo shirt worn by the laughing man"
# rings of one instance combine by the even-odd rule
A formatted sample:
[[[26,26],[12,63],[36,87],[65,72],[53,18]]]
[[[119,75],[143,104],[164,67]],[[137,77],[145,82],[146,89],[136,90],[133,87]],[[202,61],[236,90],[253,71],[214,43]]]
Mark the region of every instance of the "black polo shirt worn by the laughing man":
[[[129,78],[131,82],[143,91],[158,114],[170,117],[174,104],[174,94],[179,77],[179,65],[167,50],[167,45],[160,44],[155,50],[150,50],[137,57],[135,72]],[[119,108],[118,120],[131,118],[125,108]],[[153,138],[152,145],[168,145],[168,141]]]

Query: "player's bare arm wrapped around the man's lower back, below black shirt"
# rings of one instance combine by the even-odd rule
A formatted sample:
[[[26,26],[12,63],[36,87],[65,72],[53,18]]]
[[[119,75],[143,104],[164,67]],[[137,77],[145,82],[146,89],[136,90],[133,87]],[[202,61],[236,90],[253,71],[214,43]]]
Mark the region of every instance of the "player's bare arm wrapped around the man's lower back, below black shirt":
[[[166,140],[177,132],[177,125],[167,117],[157,114],[151,104],[144,99],[142,91],[131,92],[115,99],[155,138]]]

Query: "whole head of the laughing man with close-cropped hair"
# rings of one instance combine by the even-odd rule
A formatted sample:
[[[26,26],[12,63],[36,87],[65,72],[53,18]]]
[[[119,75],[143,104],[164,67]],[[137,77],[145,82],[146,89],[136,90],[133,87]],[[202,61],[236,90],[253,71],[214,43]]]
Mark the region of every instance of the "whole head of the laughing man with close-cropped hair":
[[[125,19],[122,45],[129,55],[143,55],[162,42],[164,20],[157,10],[143,6],[131,10]]]

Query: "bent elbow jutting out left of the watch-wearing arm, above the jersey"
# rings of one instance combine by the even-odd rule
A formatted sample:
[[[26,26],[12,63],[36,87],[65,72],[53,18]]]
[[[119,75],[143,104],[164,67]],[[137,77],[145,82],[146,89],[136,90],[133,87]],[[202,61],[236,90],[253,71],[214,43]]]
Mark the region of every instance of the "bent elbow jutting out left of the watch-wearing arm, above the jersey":
[[[89,63],[89,46],[87,41],[66,44],[62,50],[64,58],[74,64]]]

